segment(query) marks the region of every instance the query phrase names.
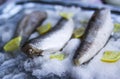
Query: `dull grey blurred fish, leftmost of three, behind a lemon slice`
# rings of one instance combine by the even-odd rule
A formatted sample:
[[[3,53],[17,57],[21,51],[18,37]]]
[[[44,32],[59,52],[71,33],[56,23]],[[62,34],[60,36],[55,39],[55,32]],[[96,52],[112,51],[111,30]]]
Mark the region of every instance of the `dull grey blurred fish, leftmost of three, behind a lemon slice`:
[[[39,26],[46,17],[47,14],[45,12],[33,11],[32,13],[27,14],[22,19],[15,32],[15,37],[22,37],[21,46],[27,41],[27,39],[34,32],[36,27]]]

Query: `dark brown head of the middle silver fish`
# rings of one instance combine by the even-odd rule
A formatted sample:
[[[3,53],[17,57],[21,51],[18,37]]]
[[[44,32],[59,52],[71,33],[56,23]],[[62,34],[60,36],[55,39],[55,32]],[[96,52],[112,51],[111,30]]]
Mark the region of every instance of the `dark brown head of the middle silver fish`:
[[[25,54],[27,54],[27,56],[30,58],[35,57],[35,56],[42,56],[42,52],[43,52],[43,50],[39,50],[30,44],[26,44],[22,46],[22,51]]]

